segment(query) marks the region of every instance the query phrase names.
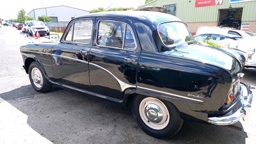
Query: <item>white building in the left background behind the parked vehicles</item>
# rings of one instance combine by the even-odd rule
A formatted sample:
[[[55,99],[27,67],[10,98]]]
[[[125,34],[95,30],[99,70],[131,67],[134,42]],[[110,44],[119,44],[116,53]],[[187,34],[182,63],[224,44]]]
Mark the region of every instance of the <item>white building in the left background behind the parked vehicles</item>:
[[[51,17],[52,23],[67,23],[74,17],[89,13],[87,10],[81,10],[78,8],[72,8],[70,6],[51,6],[45,8],[36,8],[29,12],[27,15],[33,17],[35,20],[38,16],[46,15]]]

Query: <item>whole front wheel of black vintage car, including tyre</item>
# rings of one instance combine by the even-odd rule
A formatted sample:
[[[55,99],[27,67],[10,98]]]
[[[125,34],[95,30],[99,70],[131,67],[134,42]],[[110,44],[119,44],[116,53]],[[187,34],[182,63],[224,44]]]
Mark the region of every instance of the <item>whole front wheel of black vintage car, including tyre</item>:
[[[42,68],[35,61],[29,66],[29,80],[37,92],[49,92],[52,88],[52,84],[45,78]]]

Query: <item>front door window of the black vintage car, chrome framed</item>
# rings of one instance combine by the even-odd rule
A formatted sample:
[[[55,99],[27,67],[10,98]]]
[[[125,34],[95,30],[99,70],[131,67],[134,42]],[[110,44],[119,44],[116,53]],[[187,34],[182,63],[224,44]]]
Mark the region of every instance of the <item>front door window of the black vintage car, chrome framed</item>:
[[[78,44],[90,44],[92,40],[92,28],[92,20],[74,22],[68,29],[64,40]]]

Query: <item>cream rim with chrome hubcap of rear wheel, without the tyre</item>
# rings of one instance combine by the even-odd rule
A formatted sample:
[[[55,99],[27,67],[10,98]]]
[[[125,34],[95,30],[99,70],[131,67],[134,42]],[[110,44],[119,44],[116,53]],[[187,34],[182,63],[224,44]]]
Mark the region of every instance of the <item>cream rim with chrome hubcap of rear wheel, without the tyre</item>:
[[[151,129],[164,129],[170,122],[169,111],[161,100],[146,97],[139,106],[141,120]]]

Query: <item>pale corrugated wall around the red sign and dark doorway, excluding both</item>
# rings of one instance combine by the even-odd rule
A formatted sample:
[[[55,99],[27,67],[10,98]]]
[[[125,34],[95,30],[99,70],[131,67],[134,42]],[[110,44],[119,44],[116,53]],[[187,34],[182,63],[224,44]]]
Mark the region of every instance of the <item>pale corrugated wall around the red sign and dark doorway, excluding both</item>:
[[[228,9],[230,4],[232,8],[243,8],[242,21],[256,20],[256,1],[229,3],[229,0],[223,0],[221,5],[195,7],[195,0],[156,0],[142,7],[167,4],[177,4],[176,17],[184,22],[216,22],[220,15],[219,10]]]

